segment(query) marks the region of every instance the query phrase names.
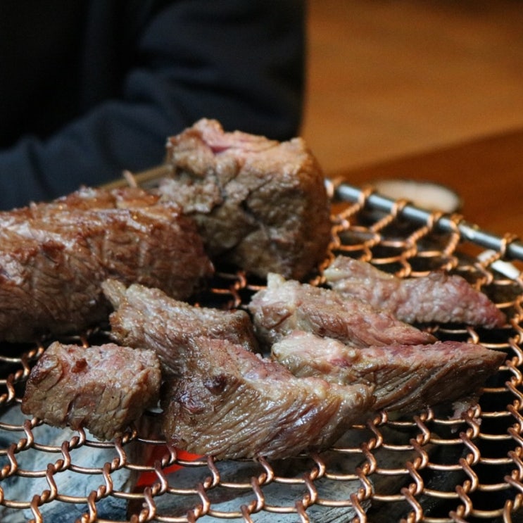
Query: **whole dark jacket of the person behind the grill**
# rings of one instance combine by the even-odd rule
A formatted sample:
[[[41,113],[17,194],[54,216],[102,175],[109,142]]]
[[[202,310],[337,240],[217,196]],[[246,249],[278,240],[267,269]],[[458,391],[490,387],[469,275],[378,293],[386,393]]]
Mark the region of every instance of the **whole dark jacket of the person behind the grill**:
[[[298,133],[299,0],[0,2],[0,208],[158,165],[199,118]]]

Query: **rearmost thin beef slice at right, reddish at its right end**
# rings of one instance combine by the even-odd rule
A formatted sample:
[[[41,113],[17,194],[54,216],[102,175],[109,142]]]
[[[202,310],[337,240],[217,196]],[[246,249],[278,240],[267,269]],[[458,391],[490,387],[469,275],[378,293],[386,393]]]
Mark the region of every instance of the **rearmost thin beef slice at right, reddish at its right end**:
[[[323,274],[341,296],[359,298],[404,322],[465,323],[486,328],[506,322],[486,294],[459,275],[434,271],[403,279],[348,256],[336,256]]]

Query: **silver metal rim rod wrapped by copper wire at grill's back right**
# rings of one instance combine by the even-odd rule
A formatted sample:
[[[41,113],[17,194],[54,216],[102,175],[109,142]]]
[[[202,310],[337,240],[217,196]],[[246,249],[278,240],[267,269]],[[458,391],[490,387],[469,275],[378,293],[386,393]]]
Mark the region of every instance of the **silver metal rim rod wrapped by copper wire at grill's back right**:
[[[334,198],[339,201],[351,202],[357,202],[365,198],[365,204],[367,206],[374,210],[382,210],[386,213],[391,213],[396,203],[393,199],[375,192],[365,195],[362,189],[347,184],[346,182],[336,184],[334,187]],[[407,220],[422,225],[427,225],[433,215],[429,210],[413,206],[410,203],[403,206],[398,214]],[[504,251],[505,258],[507,259],[523,260],[523,243],[521,241],[507,241],[506,238],[487,232],[474,223],[461,220],[458,222],[458,225],[456,225],[448,215],[443,215],[437,221],[436,227],[443,232],[451,232],[458,227],[458,230],[464,239],[471,241],[474,244],[492,249],[493,251]]]

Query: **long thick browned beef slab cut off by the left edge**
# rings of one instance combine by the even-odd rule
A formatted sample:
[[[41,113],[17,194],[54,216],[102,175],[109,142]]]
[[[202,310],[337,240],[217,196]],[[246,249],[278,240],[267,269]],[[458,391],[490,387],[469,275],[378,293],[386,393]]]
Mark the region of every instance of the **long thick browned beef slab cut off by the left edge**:
[[[157,200],[139,189],[85,189],[0,213],[0,339],[34,341],[106,320],[108,277],[190,296],[213,265],[194,222]]]

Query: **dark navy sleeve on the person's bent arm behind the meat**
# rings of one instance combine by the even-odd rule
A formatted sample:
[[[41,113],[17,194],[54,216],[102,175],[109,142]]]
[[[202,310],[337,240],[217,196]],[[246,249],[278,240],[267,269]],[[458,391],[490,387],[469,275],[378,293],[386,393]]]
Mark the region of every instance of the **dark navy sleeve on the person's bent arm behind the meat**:
[[[139,27],[121,96],[100,101],[49,139],[23,137],[0,152],[0,207],[158,165],[167,137],[203,117],[225,130],[295,136],[304,32],[298,0],[163,2]]]

